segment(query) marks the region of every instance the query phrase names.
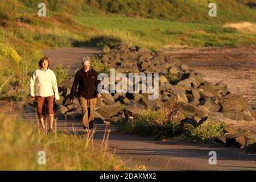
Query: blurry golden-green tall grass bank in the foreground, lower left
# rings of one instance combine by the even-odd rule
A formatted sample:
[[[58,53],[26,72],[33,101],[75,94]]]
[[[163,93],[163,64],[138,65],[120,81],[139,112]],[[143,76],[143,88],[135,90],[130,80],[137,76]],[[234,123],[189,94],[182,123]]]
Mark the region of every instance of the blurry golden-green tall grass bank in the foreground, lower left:
[[[129,170],[92,139],[57,133],[42,135],[31,123],[0,115],[0,170]],[[46,152],[46,164],[38,159]]]

